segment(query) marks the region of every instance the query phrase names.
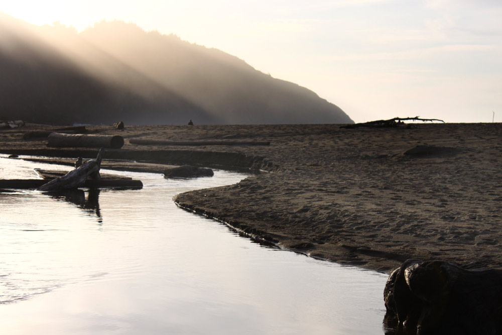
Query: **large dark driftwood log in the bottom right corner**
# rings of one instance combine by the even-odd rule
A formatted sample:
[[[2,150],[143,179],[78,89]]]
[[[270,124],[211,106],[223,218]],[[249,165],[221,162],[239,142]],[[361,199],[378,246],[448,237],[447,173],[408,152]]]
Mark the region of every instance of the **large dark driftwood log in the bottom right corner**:
[[[502,270],[407,260],[384,301],[384,323],[396,334],[502,334]]]

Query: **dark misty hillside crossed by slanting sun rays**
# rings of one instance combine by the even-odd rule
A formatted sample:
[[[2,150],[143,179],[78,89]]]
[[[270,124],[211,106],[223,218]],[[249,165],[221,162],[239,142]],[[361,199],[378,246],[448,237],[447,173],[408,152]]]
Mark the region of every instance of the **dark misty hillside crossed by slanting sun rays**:
[[[0,120],[52,124],[353,123],[237,57],[134,24],[78,34],[0,14]]]

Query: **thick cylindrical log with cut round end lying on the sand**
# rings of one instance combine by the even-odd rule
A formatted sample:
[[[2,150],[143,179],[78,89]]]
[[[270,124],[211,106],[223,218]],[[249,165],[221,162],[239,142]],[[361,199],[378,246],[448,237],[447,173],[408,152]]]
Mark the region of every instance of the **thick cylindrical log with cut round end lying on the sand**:
[[[121,136],[114,135],[74,135],[52,133],[47,146],[57,148],[112,148],[120,149],[124,145]]]

